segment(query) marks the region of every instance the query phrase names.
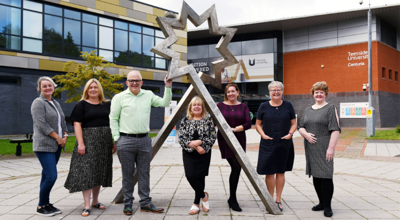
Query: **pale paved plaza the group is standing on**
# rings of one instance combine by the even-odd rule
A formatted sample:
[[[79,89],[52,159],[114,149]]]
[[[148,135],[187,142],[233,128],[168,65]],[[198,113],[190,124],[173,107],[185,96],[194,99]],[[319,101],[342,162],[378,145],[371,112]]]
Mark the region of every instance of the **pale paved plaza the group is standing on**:
[[[254,129],[247,133],[249,145],[259,141]],[[297,134],[295,134],[297,135]],[[348,134],[350,135],[350,134]],[[298,138],[298,137],[297,137]],[[255,141],[255,142],[254,142]],[[258,152],[249,146],[247,155],[256,166]],[[188,215],[194,191],[184,177],[181,148],[178,144],[164,144],[151,162],[150,187],[153,203],[165,208],[163,213],[140,212],[137,186],[131,216],[122,214],[123,204],[112,204],[121,187],[121,170],[117,156],[113,156],[113,187],[102,188],[100,202],[106,209],[92,208],[88,217],[80,216],[83,209],[81,193],[68,193],[63,184],[68,174],[70,154],[62,154],[57,165],[58,179],[50,194],[50,202],[62,209],[48,219],[325,219],[323,212],[311,211],[317,203],[312,178],[305,175],[303,149],[297,148],[293,171],[286,172],[282,193],[283,212],[276,216],[268,214],[258,195],[241,173],[237,198],[242,212],[231,210],[227,205],[229,196],[230,167],[220,158],[213,147],[211,166],[206,177],[205,191],[209,193],[210,211]],[[337,151],[336,155],[344,155]],[[346,154],[347,155],[347,154]],[[354,155],[349,155],[354,156]],[[362,159],[336,157],[334,159],[333,219],[398,219],[400,218],[400,160],[386,161],[388,156],[363,156]],[[0,220],[1,219],[47,219],[35,215],[38,202],[41,166],[35,157],[4,159],[0,157]],[[370,158],[370,159],[365,159]],[[263,176],[264,177],[264,176]]]

